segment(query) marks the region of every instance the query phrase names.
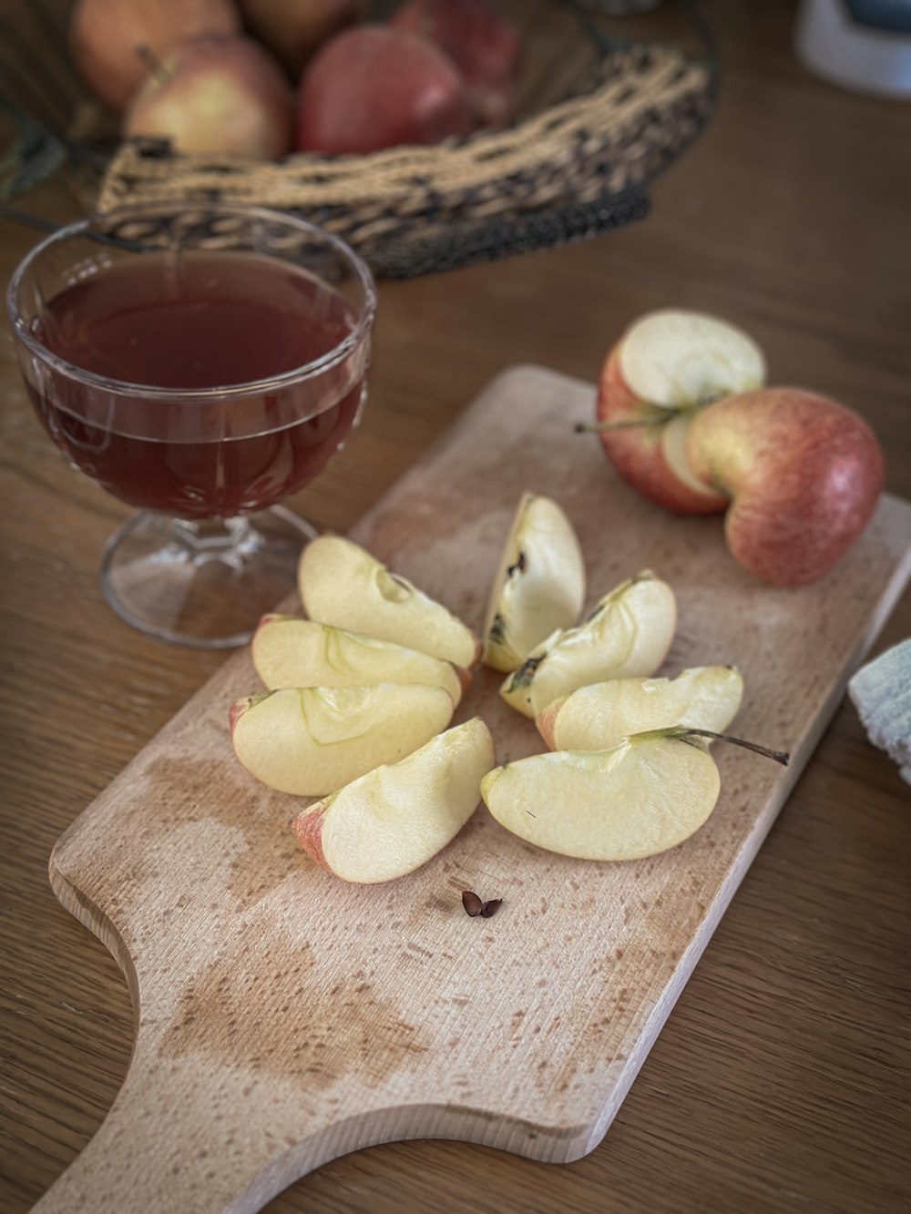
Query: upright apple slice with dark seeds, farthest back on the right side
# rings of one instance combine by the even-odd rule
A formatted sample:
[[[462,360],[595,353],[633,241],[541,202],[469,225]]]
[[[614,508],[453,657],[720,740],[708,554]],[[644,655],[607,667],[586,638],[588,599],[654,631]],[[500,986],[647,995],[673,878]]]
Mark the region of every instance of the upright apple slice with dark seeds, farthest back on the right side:
[[[515,670],[585,601],[585,562],[572,523],[550,498],[525,493],[500,555],[483,625],[486,665]]]

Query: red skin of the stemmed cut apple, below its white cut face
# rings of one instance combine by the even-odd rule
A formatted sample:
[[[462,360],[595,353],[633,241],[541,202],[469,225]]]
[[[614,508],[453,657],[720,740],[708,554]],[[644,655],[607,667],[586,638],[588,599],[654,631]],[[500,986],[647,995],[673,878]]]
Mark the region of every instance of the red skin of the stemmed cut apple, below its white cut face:
[[[705,492],[691,488],[664,458],[662,435],[673,414],[636,397],[621,370],[621,346],[622,341],[611,350],[601,371],[595,407],[598,421],[647,421],[655,418],[655,425],[600,431],[598,437],[607,458],[624,481],[666,510],[681,515],[720,514],[728,507],[728,498],[709,486]]]

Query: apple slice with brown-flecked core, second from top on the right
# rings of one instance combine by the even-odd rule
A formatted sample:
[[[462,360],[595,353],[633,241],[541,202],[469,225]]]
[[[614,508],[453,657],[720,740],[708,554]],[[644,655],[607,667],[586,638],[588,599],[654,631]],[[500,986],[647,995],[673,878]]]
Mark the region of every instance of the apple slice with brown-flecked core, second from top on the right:
[[[653,675],[677,630],[677,600],[650,571],[605,595],[578,628],[553,632],[509,675],[500,696],[525,716],[585,683]]]

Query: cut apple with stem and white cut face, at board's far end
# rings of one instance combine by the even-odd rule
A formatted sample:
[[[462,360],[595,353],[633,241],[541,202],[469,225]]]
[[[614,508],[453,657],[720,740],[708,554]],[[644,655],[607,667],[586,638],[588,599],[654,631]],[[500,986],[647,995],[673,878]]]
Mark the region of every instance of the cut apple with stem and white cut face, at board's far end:
[[[762,351],[735,325],[701,312],[650,312],[605,362],[594,429],[646,498],[679,514],[718,514],[728,499],[689,466],[686,433],[706,403],[764,381]]]

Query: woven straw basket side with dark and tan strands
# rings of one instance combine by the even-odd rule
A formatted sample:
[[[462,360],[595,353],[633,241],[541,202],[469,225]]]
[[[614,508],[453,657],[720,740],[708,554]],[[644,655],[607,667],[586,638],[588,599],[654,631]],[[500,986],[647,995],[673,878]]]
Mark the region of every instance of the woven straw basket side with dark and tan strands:
[[[640,219],[645,185],[705,125],[706,61],[673,46],[607,50],[573,95],[515,125],[434,147],[281,163],[125,143],[98,210],[128,202],[249,202],[343,237],[374,273],[411,278],[590,237]]]

